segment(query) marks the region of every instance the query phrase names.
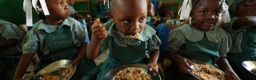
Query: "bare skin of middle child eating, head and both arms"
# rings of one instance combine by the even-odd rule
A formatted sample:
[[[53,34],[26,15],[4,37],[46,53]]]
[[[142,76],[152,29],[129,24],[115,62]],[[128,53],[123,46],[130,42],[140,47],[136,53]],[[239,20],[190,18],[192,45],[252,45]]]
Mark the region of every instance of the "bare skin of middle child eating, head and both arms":
[[[147,6],[146,0],[117,0],[116,4],[110,6],[110,18],[117,26],[118,30],[125,35],[134,35],[141,32],[146,26]],[[118,4],[118,5],[117,5]],[[142,5],[143,4],[143,5]],[[107,37],[103,24],[97,18],[92,28],[92,38],[87,46],[87,58],[97,58],[99,54],[99,46],[104,38]],[[150,52],[149,66],[154,74],[158,72],[158,56],[159,50]]]

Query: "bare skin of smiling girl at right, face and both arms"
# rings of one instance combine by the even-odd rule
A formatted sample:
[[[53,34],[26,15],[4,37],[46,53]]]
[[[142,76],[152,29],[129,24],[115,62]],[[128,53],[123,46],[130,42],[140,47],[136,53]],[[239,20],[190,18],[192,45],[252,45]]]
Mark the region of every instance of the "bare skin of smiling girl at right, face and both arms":
[[[191,10],[191,17],[194,18],[194,25],[191,26],[192,28],[201,31],[210,31],[221,21],[221,2],[219,0],[204,0],[204,2],[198,2],[198,4]],[[182,74],[189,74],[186,69],[191,69],[190,65],[194,65],[193,62],[190,62],[190,60],[183,58],[173,51],[167,51],[166,57],[177,63]],[[237,74],[235,74],[234,70],[230,67],[226,58],[221,57],[216,63],[220,69],[225,72],[225,79],[239,79]]]

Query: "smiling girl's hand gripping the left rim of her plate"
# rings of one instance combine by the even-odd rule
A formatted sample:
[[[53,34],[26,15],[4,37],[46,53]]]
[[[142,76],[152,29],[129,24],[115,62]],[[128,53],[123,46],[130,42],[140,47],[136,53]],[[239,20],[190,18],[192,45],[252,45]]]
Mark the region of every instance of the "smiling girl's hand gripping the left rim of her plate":
[[[183,57],[179,57],[177,65],[178,65],[178,69],[182,74],[190,74],[186,69],[191,69],[190,66],[195,66],[195,64],[193,62],[191,62],[190,60],[183,58]]]

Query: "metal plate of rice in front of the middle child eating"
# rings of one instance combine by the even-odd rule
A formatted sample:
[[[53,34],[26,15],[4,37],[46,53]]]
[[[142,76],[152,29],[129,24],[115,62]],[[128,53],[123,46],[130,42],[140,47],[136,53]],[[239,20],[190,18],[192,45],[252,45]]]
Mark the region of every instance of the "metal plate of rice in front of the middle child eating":
[[[125,64],[110,70],[103,80],[162,80],[159,74],[150,71],[150,66],[141,63]]]

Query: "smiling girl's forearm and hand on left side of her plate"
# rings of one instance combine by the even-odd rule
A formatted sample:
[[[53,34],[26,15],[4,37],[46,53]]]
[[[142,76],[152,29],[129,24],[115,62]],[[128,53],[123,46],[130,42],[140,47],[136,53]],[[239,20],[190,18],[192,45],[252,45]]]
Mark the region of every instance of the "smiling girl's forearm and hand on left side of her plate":
[[[166,53],[166,58],[168,58],[170,61],[177,63],[179,71],[183,74],[189,74],[189,72],[186,69],[191,69],[190,65],[194,66],[194,63],[190,60],[183,58],[182,56],[179,56],[178,54],[175,54],[173,51],[168,50]]]

